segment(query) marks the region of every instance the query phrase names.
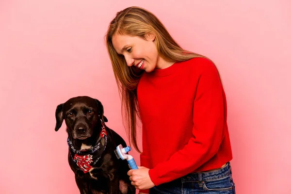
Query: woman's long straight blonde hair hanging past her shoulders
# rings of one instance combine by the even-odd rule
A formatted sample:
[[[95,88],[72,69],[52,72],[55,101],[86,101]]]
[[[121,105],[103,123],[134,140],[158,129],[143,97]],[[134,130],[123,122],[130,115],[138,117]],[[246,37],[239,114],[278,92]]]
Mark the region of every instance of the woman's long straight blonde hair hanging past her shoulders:
[[[136,121],[139,112],[136,88],[144,71],[135,70],[134,67],[129,67],[126,64],[124,56],[119,55],[113,48],[112,37],[115,33],[118,33],[145,39],[148,32],[156,36],[155,44],[158,54],[166,61],[178,62],[196,57],[207,58],[182,49],[171,37],[162,22],[146,9],[129,7],[116,14],[108,27],[105,38],[119,95],[121,96],[123,121],[126,123],[129,143],[132,143],[138,152],[140,150],[136,142]]]

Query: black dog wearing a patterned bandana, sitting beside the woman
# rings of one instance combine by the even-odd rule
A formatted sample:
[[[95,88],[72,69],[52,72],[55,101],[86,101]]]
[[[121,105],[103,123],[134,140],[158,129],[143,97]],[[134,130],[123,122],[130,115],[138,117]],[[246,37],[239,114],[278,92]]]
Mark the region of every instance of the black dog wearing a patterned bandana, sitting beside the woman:
[[[135,194],[130,184],[129,165],[118,160],[116,146],[125,141],[109,129],[103,105],[91,97],[73,97],[57,106],[56,127],[65,119],[69,146],[68,162],[81,194]]]

